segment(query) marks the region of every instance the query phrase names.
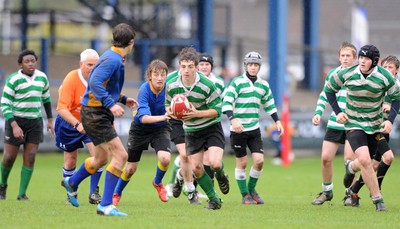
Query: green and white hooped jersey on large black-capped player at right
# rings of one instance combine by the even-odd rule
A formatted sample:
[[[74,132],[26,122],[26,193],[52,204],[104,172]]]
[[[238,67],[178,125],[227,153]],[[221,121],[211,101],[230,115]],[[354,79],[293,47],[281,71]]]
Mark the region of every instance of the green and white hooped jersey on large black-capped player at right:
[[[363,130],[367,134],[380,132],[384,97],[387,95],[391,101],[400,101],[399,82],[381,66],[376,66],[364,77],[359,65],[355,65],[334,73],[324,91],[336,93],[343,86],[347,93],[345,113],[349,117],[345,129]]]

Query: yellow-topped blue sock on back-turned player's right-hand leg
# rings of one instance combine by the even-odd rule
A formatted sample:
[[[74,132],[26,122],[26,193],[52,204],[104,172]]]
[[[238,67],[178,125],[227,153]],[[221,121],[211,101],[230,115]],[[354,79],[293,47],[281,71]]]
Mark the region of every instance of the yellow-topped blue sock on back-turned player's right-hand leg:
[[[112,196],[121,174],[122,171],[114,168],[113,165],[109,164],[107,166],[106,176],[104,178],[104,192],[100,202],[101,206],[108,206],[112,204]]]

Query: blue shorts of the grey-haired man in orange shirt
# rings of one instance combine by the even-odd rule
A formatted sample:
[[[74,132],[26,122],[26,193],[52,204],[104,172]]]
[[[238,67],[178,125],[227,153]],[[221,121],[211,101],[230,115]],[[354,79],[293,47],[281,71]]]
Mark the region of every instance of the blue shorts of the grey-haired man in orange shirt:
[[[92,142],[89,136],[79,133],[60,115],[57,115],[54,131],[56,133],[56,146],[64,152],[74,152],[79,148],[83,148],[83,143]]]

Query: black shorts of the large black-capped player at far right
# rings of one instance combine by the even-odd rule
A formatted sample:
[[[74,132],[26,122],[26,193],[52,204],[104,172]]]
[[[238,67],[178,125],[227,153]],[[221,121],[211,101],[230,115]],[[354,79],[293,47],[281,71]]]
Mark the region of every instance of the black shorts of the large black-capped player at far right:
[[[353,152],[362,146],[367,146],[371,158],[377,153],[379,141],[385,140],[381,133],[367,134],[363,130],[348,130],[346,137]]]

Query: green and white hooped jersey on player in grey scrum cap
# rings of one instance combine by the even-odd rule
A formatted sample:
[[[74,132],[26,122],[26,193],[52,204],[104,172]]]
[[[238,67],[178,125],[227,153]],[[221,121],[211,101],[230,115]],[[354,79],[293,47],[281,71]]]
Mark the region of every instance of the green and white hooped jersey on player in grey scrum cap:
[[[246,73],[233,78],[225,92],[222,112],[233,111],[244,131],[251,131],[260,127],[261,108],[269,115],[277,112],[268,82],[257,77],[253,84]],[[233,131],[232,125],[230,130]]]

